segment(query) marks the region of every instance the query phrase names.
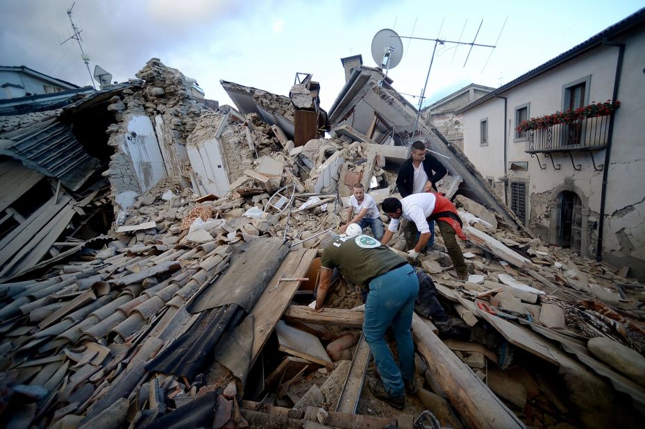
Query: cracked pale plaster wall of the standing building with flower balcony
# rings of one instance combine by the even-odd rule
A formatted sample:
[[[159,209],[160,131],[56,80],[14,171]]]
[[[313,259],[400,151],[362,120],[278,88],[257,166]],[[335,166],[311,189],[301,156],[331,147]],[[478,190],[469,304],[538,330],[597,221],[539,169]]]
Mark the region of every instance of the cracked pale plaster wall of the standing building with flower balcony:
[[[605,201],[605,233],[603,233],[603,258],[617,266],[637,265],[645,255],[645,85],[643,85],[642,58],[645,58],[645,33],[636,32],[624,40],[626,51],[623,59],[621,84],[617,99],[621,108],[614,114],[612,154],[608,171]],[[551,206],[554,194],[562,189],[573,189],[588,209],[587,248],[583,254],[596,253],[597,229],[601,206],[603,171],[594,170],[589,152],[573,151],[573,161],[580,171],[573,169],[571,159],[562,152],[553,153],[553,163],[544,153],[536,158],[526,153],[526,142],[514,138],[515,108],[529,103],[528,117],[548,115],[563,110],[563,87],[573,81],[590,76],[587,87],[587,104],[612,99],[616,74],[617,47],[597,47],[562,65],[540,74],[501,94],[508,99],[507,127],[508,162],[528,162],[528,171],[508,171],[510,181],[528,182],[530,228],[536,232],[548,231],[552,223]],[[489,99],[480,106],[464,112],[464,153],[483,176],[503,176],[503,100]],[[489,146],[480,146],[479,121],[488,117]],[[508,120],[510,119],[510,124]],[[593,151],[596,165],[605,162],[605,150]],[[507,165],[508,167],[508,165]],[[510,201],[509,201],[510,203]],[[542,235],[544,239],[544,234]],[[545,240],[546,241],[546,240]],[[640,262],[638,262],[640,261]],[[633,269],[636,274],[637,269]],[[645,275],[645,270],[641,274]]]

